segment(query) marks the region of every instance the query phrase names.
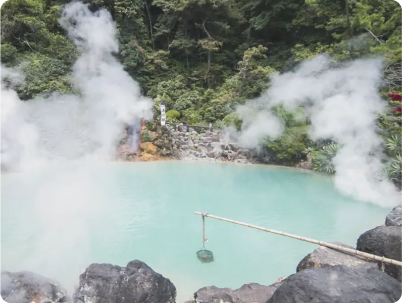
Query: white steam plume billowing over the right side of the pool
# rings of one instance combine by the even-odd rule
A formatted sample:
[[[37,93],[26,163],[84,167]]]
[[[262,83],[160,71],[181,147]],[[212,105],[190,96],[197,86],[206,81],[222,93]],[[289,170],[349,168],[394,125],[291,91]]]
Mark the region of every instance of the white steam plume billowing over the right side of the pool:
[[[278,105],[287,110],[304,106],[311,114],[312,138],[342,145],[334,158],[337,188],[359,200],[395,206],[400,203],[395,187],[378,178],[384,159],[376,123],[384,108],[378,93],[381,74],[381,60],[333,67],[329,56],[317,56],[292,72],[273,75],[270,88],[238,111],[253,109],[268,115]],[[245,122],[240,141],[254,146],[263,136],[276,137],[283,130],[281,121],[272,116],[252,115]]]

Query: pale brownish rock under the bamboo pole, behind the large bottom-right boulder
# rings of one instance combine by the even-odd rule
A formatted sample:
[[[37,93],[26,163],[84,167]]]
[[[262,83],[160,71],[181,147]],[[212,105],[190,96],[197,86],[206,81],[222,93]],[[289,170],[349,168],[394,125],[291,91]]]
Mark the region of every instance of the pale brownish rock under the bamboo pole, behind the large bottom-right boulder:
[[[333,244],[355,249],[355,247],[351,247],[340,242],[333,242]],[[297,265],[296,272],[315,267],[332,267],[342,264],[351,268],[359,268],[369,264],[376,266],[376,263],[369,259],[347,254],[345,252],[325,246],[319,246],[317,249],[311,252],[311,254],[308,254],[303,260],[300,261],[300,263]]]

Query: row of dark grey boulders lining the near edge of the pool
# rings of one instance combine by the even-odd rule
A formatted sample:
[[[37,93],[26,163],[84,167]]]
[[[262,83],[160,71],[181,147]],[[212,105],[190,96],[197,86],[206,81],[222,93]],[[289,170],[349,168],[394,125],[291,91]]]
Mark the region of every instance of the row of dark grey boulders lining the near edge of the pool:
[[[388,214],[385,225],[363,233],[356,249],[402,261],[402,205]],[[204,287],[185,303],[396,303],[402,298],[402,267],[324,246],[301,260],[295,271],[269,286]],[[176,287],[139,260],[126,267],[89,265],[71,296],[56,281],[35,273],[0,271],[0,302],[175,303]]]

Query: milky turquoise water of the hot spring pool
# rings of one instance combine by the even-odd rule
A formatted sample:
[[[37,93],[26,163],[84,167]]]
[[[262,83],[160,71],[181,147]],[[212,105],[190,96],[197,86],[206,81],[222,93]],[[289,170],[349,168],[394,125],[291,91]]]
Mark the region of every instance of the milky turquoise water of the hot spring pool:
[[[329,177],[259,165],[110,163],[0,176],[0,268],[35,270],[71,287],[90,263],[139,259],[176,285],[178,302],[208,285],[270,284],[317,246],[206,218],[211,214],[356,245],[390,209],[351,200]]]

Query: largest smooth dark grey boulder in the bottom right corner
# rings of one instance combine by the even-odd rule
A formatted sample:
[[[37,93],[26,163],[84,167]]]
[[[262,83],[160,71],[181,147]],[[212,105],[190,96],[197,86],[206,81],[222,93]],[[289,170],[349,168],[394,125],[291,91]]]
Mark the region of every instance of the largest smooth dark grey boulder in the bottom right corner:
[[[402,283],[370,266],[302,270],[289,276],[267,303],[396,303]]]

